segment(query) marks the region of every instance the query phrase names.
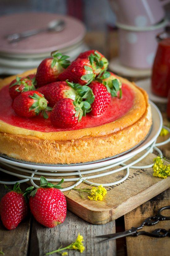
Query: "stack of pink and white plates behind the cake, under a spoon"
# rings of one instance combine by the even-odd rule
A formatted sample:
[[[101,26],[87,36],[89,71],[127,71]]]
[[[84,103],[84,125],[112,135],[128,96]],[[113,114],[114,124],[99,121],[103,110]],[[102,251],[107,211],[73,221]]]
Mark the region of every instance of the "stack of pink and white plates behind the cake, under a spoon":
[[[63,20],[65,28],[61,32],[43,32],[15,43],[9,43],[6,39],[9,34],[46,28],[52,20]],[[80,52],[88,49],[83,42],[86,29],[82,22],[73,17],[21,13],[1,16],[0,24],[3,24],[0,34],[0,74],[18,74],[36,68],[55,50],[74,60]]]

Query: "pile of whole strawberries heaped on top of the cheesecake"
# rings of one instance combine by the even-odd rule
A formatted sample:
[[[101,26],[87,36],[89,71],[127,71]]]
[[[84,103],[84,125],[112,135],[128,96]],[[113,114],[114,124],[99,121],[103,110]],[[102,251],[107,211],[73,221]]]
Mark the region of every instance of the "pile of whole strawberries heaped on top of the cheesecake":
[[[52,52],[51,58],[40,63],[36,76],[11,82],[9,90],[17,115],[32,117],[42,113],[48,118],[52,110],[53,125],[72,128],[86,113],[103,114],[118,91],[121,97],[121,83],[113,73],[105,71],[108,61],[100,52],[81,53],[71,64],[67,58]]]

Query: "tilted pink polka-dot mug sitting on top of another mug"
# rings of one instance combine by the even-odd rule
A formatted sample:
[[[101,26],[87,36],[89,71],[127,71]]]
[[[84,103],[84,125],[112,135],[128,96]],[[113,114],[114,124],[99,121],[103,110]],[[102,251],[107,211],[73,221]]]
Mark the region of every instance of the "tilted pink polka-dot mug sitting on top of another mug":
[[[170,0],[110,0],[117,22],[136,27],[151,26],[164,19],[162,5]]]

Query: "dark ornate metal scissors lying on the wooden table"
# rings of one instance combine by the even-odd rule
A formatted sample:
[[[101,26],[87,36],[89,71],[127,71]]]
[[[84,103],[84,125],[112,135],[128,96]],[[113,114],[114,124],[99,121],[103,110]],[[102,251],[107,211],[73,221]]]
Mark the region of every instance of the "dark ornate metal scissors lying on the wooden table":
[[[145,236],[153,236],[153,237],[165,237],[165,236],[170,236],[170,229],[166,230],[163,228],[157,228],[154,231],[147,232],[147,231],[138,231],[139,229],[142,229],[143,226],[152,226],[157,224],[161,220],[170,220],[170,217],[166,217],[161,214],[161,212],[165,209],[170,209],[170,205],[164,206],[160,208],[155,216],[151,216],[146,218],[142,224],[138,227],[132,227],[131,229],[124,231],[124,232],[119,232],[119,233],[114,233],[114,234],[108,234],[108,235],[102,235],[102,236],[96,236],[96,237],[108,237],[107,239],[104,239],[100,241],[99,243],[109,241],[112,239],[117,239],[120,237],[124,236],[139,236],[139,235],[145,235]]]

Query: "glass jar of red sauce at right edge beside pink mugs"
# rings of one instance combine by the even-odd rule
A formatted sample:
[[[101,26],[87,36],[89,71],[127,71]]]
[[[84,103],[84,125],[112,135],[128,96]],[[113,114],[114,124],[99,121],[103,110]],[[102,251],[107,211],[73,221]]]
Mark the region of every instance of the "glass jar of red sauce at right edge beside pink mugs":
[[[167,97],[170,88],[170,32],[157,36],[157,48],[152,69],[152,92],[159,97]]]

